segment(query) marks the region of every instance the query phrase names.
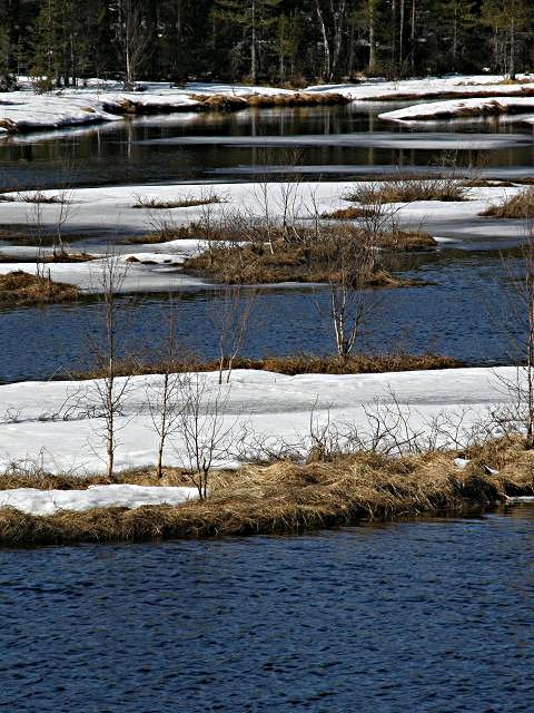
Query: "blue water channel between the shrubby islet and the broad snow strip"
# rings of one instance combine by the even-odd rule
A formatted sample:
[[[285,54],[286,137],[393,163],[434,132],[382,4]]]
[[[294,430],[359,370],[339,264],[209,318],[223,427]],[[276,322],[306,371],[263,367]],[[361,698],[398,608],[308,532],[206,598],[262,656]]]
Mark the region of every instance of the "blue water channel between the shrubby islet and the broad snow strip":
[[[516,265],[513,260],[512,270]],[[357,351],[432,351],[468,364],[522,358],[515,338],[525,325],[511,319],[508,306],[517,296],[501,255],[445,251],[416,258],[404,274],[432,284],[369,292]],[[178,342],[185,351],[200,359],[216,358],[225,300],[211,290],[175,295]],[[161,359],[168,334],[167,297],[125,297],[122,305],[120,351],[147,363]],[[328,309],[324,287],[266,290],[255,301],[241,355],[333,353]],[[1,380],[48,379],[93,362],[91,345],[102,342],[102,310],[97,302],[3,310],[0,334]]]

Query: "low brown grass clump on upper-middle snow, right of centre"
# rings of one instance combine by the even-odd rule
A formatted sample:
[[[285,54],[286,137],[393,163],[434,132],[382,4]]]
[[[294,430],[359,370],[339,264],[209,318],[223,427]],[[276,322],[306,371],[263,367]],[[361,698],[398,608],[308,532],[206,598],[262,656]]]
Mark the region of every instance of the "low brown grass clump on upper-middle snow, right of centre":
[[[465,201],[466,188],[453,178],[438,179],[400,179],[385,184],[374,183],[370,186],[355,186],[344,195],[345,201],[363,205],[382,205],[384,203],[413,203],[415,201]]]

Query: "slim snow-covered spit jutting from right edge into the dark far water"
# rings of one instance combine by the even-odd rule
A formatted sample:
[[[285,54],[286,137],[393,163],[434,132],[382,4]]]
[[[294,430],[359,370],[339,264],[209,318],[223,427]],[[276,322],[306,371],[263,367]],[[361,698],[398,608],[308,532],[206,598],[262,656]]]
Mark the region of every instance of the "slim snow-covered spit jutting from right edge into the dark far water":
[[[494,96],[476,99],[453,99],[416,104],[395,111],[380,114],[378,118],[390,121],[424,121],[469,116],[518,114],[534,109],[534,97]]]

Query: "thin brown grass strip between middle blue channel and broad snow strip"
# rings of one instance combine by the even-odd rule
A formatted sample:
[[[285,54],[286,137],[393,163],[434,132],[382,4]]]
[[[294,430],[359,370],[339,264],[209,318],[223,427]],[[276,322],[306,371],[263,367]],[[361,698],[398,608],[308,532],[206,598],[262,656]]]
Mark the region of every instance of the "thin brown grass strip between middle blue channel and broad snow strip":
[[[237,356],[234,369],[257,369],[273,371],[295,377],[296,374],[369,374],[388,373],[393,371],[421,371],[435,369],[458,369],[463,362],[441,354],[407,354],[394,352],[390,354],[353,354],[348,359],[333,355],[291,354],[288,356],[266,356],[250,359]],[[168,363],[147,363],[134,358],[117,360],[115,375],[140,377],[146,374],[165,373]],[[191,359],[177,359],[170,364],[170,371],[182,373],[187,371],[217,371],[218,361],[196,362]],[[101,379],[105,373],[99,368],[82,372],[70,372],[66,378],[73,380]]]

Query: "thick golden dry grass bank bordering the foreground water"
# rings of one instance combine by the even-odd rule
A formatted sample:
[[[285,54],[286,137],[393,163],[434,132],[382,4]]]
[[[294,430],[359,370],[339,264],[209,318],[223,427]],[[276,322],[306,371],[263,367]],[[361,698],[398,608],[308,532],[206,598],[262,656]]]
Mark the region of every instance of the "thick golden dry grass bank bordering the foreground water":
[[[478,453],[483,458],[483,451]],[[532,452],[515,450],[501,476],[472,463],[461,470],[455,453],[386,458],[358,453],[333,462],[246,466],[216,473],[206,501],[98,508],[51,516],[0,510],[0,544],[140,541],[255,534],[299,534],[358,522],[454,514],[484,508],[507,494],[534,492]],[[528,467],[526,467],[528,466]]]

